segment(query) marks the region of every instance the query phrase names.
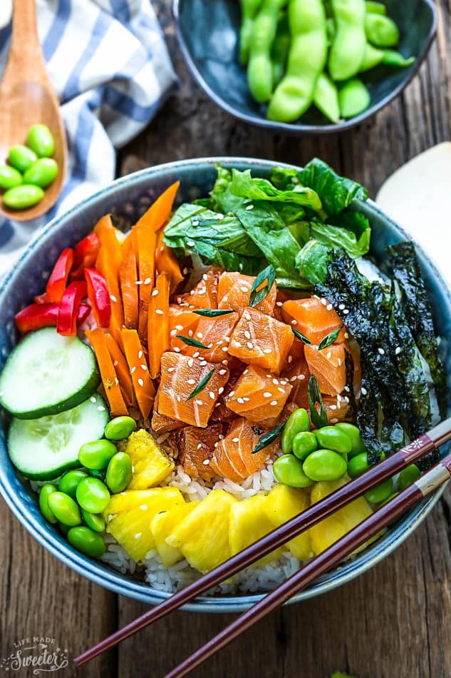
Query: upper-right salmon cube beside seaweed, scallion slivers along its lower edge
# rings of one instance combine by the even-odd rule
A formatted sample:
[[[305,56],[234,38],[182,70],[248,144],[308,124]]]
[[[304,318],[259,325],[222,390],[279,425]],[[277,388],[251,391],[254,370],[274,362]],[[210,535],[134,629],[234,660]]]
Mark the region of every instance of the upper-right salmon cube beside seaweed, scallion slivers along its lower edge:
[[[321,339],[343,325],[332,304],[326,299],[310,297],[292,299],[282,306],[285,322],[299,330],[311,343],[319,344]],[[345,340],[346,328],[343,327],[337,341]]]

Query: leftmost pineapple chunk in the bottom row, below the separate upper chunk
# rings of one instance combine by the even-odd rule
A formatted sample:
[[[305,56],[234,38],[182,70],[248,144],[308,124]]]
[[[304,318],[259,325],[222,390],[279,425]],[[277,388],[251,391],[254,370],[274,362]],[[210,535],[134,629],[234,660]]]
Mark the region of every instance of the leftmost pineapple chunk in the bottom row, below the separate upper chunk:
[[[103,517],[106,531],[125,549],[135,562],[155,549],[150,521],[161,511],[185,503],[176,487],[155,487],[152,490],[130,490],[113,495]]]

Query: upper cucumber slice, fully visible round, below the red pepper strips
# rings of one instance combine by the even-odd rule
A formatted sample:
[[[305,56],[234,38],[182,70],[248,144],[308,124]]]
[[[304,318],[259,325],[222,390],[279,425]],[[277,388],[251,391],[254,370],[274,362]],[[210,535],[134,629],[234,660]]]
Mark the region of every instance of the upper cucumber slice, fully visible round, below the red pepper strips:
[[[0,405],[19,419],[71,410],[100,383],[93,350],[55,328],[26,336],[9,355],[0,375]]]

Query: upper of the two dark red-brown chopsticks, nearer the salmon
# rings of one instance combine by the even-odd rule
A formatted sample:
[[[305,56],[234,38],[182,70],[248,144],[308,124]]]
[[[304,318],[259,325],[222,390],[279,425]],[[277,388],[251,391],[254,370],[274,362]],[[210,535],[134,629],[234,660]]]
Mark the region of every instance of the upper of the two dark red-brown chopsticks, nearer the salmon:
[[[269,532],[268,535],[254,542],[254,544],[237,553],[237,555],[232,556],[232,558],[223,562],[222,565],[214,568],[214,570],[192,582],[189,586],[163,600],[156,607],[142,614],[141,617],[127,624],[123,629],[118,629],[118,631],[103,639],[86,652],[83,652],[79,657],[76,657],[73,663],[76,666],[82,666],[89,662],[90,659],[97,657],[98,654],[114,647],[125,638],[130,637],[140,629],[169,614],[172,610],[190,602],[193,598],[232,577],[277,547],[297,537],[304,530],[316,525],[323,518],[328,517],[334,511],[356,499],[356,497],[369,490],[370,487],[378,485],[379,482],[382,482],[413,462],[418,461],[418,459],[428,452],[437,449],[437,447],[440,447],[440,445],[448,440],[451,440],[451,418],[435,426],[426,434],[421,435],[411,442],[410,445],[395,452],[394,455],[375,465],[368,472],[351,480],[346,485],[343,485],[343,487],[332,492],[331,495],[324,497],[320,502],[311,505],[304,512],[285,522],[284,525],[281,525],[276,530]],[[305,568],[302,572],[304,570]]]

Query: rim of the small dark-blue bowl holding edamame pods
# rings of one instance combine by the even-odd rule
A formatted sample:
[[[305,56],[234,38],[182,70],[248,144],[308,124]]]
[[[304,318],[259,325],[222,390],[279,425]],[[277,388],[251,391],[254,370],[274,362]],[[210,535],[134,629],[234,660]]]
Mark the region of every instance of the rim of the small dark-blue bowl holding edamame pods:
[[[209,86],[207,81],[204,79],[204,76],[202,76],[201,72],[197,68],[194,59],[192,59],[190,49],[188,49],[185,38],[182,34],[182,29],[180,26],[180,4],[182,1],[183,0],[172,0],[172,14],[175,21],[175,34],[177,36],[177,41],[180,46],[180,51],[182,52],[182,56],[185,59],[185,63],[187,64],[190,74],[192,75],[193,79],[195,80],[199,88],[201,88],[207,94],[207,96],[209,96],[209,98],[214,103],[216,103],[217,106],[219,106],[219,108],[222,108],[223,111],[226,111],[227,113],[229,113],[229,115],[233,116],[234,118],[237,118],[238,120],[244,123],[248,123],[249,125],[261,127],[269,131],[284,133],[288,136],[296,136],[301,134],[331,134],[334,132],[343,132],[353,127],[356,127],[363,121],[368,120],[368,118],[374,116],[375,113],[378,113],[378,111],[380,111],[381,108],[384,108],[385,106],[388,105],[388,103],[390,103],[390,101],[393,101],[393,99],[396,98],[411,83],[413,78],[415,78],[416,74],[420,70],[420,66],[422,66],[423,61],[425,60],[427,54],[430,51],[432,43],[437,34],[438,26],[438,11],[437,7],[435,6],[434,0],[420,0],[425,5],[427,5],[432,14],[432,24],[430,27],[430,31],[427,34],[427,41],[425,43],[423,50],[418,55],[418,58],[415,60],[415,63],[412,64],[408,78],[403,80],[397,87],[390,91],[390,93],[384,96],[379,101],[379,103],[376,103],[374,106],[370,106],[370,108],[367,108],[367,110],[363,111],[363,113],[360,113],[360,115],[356,116],[355,118],[351,118],[351,120],[348,121],[343,121],[340,123],[327,123],[326,125],[281,123],[272,120],[266,120],[266,118],[262,118],[257,115],[255,116],[249,115],[248,113],[243,113],[242,111],[239,111],[237,108],[234,108],[234,106],[228,103],[224,98],[222,98],[222,96],[220,96],[216,91],[214,91],[214,89],[212,89]]]

